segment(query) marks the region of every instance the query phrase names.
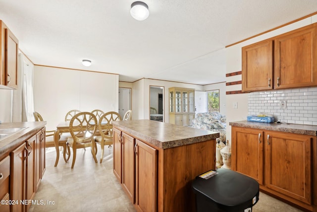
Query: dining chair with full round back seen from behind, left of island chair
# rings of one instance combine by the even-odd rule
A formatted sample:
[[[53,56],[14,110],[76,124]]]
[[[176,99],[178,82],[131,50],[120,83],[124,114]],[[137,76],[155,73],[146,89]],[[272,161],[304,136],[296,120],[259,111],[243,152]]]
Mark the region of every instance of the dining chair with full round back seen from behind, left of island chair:
[[[80,112],[75,114],[69,123],[71,137],[67,140],[67,149],[70,154],[70,147],[73,149],[73,161],[71,168],[74,168],[76,152],[78,148],[91,147],[92,155],[97,163],[96,143],[94,140],[98,128],[97,118],[90,112]],[[68,158],[69,159],[69,158]]]

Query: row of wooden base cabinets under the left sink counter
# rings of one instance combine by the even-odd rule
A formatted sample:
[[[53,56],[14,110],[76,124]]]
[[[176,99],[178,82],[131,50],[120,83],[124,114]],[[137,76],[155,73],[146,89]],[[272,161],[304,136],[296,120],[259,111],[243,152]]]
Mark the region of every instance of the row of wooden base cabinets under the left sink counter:
[[[42,145],[43,144],[43,145]],[[27,212],[45,170],[45,128],[24,141],[0,161],[1,212]],[[10,203],[10,202],[8,202]]]

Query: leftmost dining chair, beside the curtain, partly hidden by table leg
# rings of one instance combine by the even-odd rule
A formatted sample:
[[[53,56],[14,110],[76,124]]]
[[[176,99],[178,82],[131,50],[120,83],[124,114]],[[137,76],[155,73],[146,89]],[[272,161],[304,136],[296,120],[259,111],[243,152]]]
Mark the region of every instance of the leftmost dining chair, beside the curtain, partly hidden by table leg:
[[[33,116],[34,116],[36,122],[43,122],[44,121],[42,116],[38,112],[33,112]],[[54,130],[45,131],[45,147],[55,147],[54,132],[55,132]],[[58,146],[62,147],[63,157],[64,157],[65,162],[67,162],[67,160],[69,159],[69,154],[66,150],[67,149],[66,142],[67,142],[68,136],[59,135],[58,138],[59,138],[58,139]],[[66,154],[68,154],[68,159],[66,159]]]

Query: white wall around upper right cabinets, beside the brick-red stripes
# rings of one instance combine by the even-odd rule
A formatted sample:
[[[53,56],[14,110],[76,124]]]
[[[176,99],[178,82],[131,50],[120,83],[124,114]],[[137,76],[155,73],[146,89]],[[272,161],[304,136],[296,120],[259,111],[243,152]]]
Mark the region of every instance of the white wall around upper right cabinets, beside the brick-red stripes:
[[[265,33],[263,35],[260,35],[258,37],[246,40],[242,43],[236,44],[234,46],[230,46],[226,48],[226,73],[231,73],[235,71],[241,71],[242,69],[242,52],[241,48],[243,46],[247,46],[253,43],[256,43],[258,41],[262,41],[264,39],[274,37],[276,35],[309,25],[311,23],[317,22],[317,15],[314,15],[312,17],[305,18],[303,20],[297,21],[295,23],[286,25],[284,27],[281,27],[279,29],[270,31],[268,33]],[[228,77],[227,77],[228,78]],[[241,75],[234,76],[234,79],[232,80],[232,77],[230,77],[230,81],[236,81],[241,80]],[[227,79],[228,81],[228,79]],[[227,86],[227,91],[229,90],[241,90],[242,85],[234,85],[234,86]],[[280,93],[287,93],[288,90],[279,90]],[[286,94],[287,95],[287,94]],[[231,126],[229,126],[229,122],[232,121],[241,121],[246,120],[246,117],[249,115],[248,111],[248,101],[249,101],[249,95],[247,93],[242,94],[229,94],[226,95],[226,105],[227,105],[227,133],[226,138],[231,143]],[[232,105],[234,102],[238,103],[238,108],[233,109]]]

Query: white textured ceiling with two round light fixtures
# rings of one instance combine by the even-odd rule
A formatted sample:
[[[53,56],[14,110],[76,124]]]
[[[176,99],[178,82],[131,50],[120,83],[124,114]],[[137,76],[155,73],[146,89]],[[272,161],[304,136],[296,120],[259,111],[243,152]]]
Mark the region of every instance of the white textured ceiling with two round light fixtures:
[[[317,11],[317,0],[144,0],[137,21],[133,1],[0,0],[0,19],[36,65],[210,84],[225,81],[225,46]]]

